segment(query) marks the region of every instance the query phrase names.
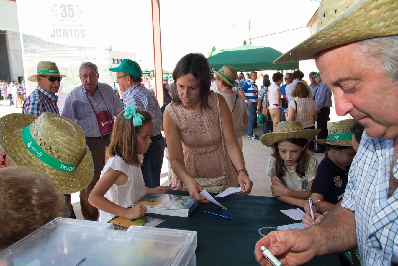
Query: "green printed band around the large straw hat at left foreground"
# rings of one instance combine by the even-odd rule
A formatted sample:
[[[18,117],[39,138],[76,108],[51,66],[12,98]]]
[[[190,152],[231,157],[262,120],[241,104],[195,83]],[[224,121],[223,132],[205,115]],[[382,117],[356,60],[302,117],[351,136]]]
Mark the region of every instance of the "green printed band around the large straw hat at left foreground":
[[[22,130],[22,140],[26,148],[33,154],[37,159],[62,172],[72,173],[77,166],[76,164],[66,164],[53,156],[50,156],[43,150],[40,145],[35,142],[35,139],[30,134],[29,126]]]

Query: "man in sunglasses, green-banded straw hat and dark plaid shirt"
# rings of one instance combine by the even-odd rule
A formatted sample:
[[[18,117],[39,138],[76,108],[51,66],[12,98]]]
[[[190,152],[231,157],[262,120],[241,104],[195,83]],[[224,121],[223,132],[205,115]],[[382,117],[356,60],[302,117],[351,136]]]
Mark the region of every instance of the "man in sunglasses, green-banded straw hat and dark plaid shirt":
[[[63,77],[59,73],[55,62],[41,61],[37,64],[37,73],[27,78],[35,81],[39,86],[25,100],[23,104],[24,114],[40,115],[43,112],[59,114],[57,107],[58,92]]]

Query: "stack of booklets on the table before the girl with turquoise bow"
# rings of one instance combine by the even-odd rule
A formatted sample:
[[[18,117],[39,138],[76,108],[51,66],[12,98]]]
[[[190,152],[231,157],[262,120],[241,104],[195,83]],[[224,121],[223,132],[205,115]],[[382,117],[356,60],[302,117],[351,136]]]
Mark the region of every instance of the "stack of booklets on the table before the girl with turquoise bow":
[[[188,217],[198,202],[189,196],[151,193],[132,205],[144,205],[148,208],[146,213]]]

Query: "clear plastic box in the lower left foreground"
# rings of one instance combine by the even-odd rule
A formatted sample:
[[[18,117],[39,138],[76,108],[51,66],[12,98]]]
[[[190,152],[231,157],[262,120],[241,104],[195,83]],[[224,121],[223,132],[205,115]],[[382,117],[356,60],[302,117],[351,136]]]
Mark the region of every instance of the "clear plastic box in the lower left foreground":
[[[197,232],[56,218],[0,252],[0,265],[196,265]]]

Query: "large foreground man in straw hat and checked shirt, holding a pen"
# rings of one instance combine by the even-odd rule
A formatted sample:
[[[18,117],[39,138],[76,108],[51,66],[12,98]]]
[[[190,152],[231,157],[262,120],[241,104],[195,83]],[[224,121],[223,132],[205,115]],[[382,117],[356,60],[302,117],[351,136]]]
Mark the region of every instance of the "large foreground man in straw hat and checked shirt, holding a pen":
[[[318,14],[318,32],[275,62],[315,58],[337,114],[350,113],[366,132],[341,207],[309,229],[268,234],[256,260],[267,263],[261,246],[289,265],[357,247],[361,264],[397,265],[398,2],[323,0]]]

